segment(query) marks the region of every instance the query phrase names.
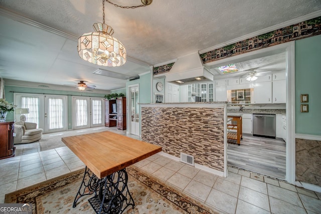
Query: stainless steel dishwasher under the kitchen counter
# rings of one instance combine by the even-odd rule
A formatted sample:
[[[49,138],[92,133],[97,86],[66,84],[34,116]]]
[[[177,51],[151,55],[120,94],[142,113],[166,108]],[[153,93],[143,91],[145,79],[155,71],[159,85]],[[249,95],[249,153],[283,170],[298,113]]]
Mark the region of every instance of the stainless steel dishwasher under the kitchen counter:
[[[275,114],[253,114],[253,136],[275,138]]]

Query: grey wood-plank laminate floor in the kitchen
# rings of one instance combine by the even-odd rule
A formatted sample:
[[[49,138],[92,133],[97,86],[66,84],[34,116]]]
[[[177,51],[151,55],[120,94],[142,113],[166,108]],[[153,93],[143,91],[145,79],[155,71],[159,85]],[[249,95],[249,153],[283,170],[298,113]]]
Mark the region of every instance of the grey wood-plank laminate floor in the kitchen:
[[[235,140],[228,140],[228,164],[285,179],[285,142],[283,140],[244,135],[240,146],[235,142]]]

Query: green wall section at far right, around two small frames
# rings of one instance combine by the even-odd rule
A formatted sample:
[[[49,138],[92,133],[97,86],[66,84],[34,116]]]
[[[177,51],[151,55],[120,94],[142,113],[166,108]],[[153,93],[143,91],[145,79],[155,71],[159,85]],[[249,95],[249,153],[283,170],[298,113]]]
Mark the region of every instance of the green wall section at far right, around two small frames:
[[[295,132],[321,135],[321,35],[295,41]],[[300,95],[308,94],[308,112]]]

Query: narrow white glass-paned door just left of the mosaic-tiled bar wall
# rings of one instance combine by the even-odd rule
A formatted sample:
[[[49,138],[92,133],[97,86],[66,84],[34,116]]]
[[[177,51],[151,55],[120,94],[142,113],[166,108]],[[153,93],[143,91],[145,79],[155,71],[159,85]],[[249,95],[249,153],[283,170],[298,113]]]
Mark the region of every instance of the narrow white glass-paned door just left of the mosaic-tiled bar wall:
[[[139,136],[139,87],[138,85],[130,86],[130,129],[129,133]]]

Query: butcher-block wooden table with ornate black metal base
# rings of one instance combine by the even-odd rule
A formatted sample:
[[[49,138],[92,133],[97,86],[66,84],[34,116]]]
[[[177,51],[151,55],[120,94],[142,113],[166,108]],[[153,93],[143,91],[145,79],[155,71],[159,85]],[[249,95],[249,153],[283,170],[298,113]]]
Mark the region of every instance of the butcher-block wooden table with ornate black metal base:
[[[160,146],[110,131],[63,137],[62,141],[86,165],[73,207],[80,197],[94,194],[88,201],[99,214],[134,207],[126,167],[162,151]]]

